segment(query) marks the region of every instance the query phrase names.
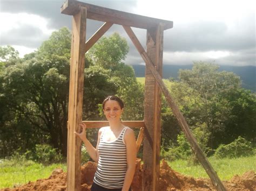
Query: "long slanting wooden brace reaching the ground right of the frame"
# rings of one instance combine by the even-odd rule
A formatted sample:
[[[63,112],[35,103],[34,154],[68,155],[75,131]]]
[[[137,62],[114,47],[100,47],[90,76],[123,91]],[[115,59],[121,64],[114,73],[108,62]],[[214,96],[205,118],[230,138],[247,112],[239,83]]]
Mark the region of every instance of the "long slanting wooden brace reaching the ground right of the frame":
[[[146,63],[146,66],[150,69],[151,73],[154,76],[154,79],[156,79],[159,87],[161,88],[161,91],[163,92],[166,101],[169,105],[169,107],[172,109],[174,116],[178,119],[179,125],[183,132],[185,133],[185,136],[190,143],[190,146],[192,148],[192,151],[196,155],[197,159],[200,161],[201,165],[204,167],[206,173],[210,177],[213,185],[217,190],[226,190],[223,183],[220,181],[219,176],[212,168],[210,162],[205,157],[204,152],[199,147],[197,140],[193,137],[192,132],[184,118],[184,116],[181,114],[179,108],[177,107],[176,103],[174,102],[173,97],[170,95],[169,90],[166,88],[163,80],[161,79],[161,76],[157,72],[157,69],[154,67],[153,62],[149,58],[149,55],[145,52],[143,46],[139,43],[139,40],[133,33],[132,29],[130,27],[124,26],[125,31],[127,32],[128,36],[131,38],[134,46],[138,49],[138,52],[142,56],[143,60]],[[147,126],[147,123],[145,122],[145,125]]]

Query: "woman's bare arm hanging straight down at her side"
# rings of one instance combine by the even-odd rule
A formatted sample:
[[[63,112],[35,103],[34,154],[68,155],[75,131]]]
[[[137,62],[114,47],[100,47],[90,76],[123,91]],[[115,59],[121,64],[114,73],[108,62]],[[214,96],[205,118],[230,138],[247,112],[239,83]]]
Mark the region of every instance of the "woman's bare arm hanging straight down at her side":
[[[124,185],[122,191],[129,190],[133,175],[136,167],[136,139],[132,129],[127,129],[124,136],[124,142],[126,145],[126,160],[127,160],[127,171],[124,178]]]

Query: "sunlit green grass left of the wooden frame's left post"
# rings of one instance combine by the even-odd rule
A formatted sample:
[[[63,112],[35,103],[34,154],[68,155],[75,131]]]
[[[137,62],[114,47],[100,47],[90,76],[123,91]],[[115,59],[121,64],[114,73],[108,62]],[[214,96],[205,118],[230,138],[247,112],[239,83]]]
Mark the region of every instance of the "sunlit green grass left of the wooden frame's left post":
[[[0,189],[48,178],[56,168],[66,172],[66,164],[44,166],[29,160],[0,160]]]

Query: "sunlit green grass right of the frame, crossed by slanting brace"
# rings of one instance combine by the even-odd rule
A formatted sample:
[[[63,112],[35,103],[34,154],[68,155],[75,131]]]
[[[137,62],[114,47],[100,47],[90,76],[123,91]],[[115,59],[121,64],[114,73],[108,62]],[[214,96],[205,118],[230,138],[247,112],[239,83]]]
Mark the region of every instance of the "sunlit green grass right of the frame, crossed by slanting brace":
[[[235,174],[242,175],[247,171],[256,172],[256,155],[252,157],[240,157],[237,159],[215,159],[208,158],[212,167],[221,180],[230,180]],[[186,160],[168,162],[169,166],[181,174],[193,176],[194,178],[208,178],[201,165],[188,165]]]

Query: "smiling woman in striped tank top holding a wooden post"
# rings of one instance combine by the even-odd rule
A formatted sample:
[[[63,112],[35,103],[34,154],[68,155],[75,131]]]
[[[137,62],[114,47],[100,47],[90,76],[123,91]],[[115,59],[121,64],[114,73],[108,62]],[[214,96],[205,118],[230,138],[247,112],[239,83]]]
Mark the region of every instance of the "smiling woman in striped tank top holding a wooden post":
[[[117,96],[108,96],[102,107],[109,126],[99,129],[96,148],[86,138],[85,124],[79,124],[83,128],[81,133],[75,132],[90,157],[98,163],[91,190],[131,190],[136,166],[136,139],[133,130],[120,121],[124,103]]]

